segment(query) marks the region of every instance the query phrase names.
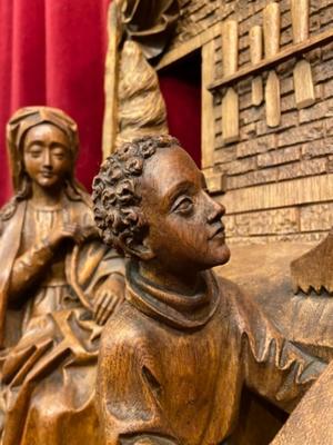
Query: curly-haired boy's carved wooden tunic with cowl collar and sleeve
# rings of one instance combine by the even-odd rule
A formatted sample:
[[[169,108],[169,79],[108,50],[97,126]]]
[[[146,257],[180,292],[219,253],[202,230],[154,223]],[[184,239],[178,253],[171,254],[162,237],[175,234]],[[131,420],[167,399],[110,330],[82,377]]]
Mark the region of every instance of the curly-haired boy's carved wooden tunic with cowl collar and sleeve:
[[[242,387],[290,412],[325,364],[284,339],[231,281],[203,273],[183,296],[127,269],[127,300],[109,319],[98,367],[103,444],[218,445]]]

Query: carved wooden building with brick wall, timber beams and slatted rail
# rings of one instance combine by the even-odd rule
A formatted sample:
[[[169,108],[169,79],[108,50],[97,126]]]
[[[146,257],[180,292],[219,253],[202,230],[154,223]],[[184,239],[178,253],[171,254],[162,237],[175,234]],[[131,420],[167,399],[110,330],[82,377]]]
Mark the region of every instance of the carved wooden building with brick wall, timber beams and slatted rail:
[[[202,168],[230,243],[333,226],[333,0],[180,0],[159,71],[202,61]]]

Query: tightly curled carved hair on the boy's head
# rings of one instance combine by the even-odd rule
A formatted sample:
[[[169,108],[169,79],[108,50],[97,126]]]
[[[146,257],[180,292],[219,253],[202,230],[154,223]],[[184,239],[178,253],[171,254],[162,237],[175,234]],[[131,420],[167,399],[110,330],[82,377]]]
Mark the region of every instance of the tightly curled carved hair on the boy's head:
[[[148,136],[124,144],[101,166],[92,185],[94,220],[103,241],[125,253],[143,240],[148,226],[137,192],[144,161],[158,149],[179,146],[171,136]]]

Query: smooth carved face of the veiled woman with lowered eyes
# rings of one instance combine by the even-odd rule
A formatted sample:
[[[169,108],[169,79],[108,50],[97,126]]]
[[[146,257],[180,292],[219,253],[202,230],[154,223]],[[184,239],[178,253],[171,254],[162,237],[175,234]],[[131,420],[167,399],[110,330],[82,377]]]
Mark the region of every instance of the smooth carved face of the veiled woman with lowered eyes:
[[[72,169],[67,135],[52,123],[32,127],[24,138],[23,162],[32,182],[42,188],[62,187]]]

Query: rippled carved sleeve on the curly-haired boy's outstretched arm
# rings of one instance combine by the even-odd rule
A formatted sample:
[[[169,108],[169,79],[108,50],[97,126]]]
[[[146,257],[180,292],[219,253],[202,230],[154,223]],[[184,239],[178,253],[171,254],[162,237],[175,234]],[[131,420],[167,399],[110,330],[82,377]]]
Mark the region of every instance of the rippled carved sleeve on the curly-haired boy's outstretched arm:
[[[326,364],[289,342],[236,286],[233,310],[249,388],[290,412]]]

